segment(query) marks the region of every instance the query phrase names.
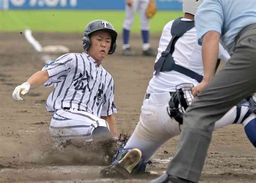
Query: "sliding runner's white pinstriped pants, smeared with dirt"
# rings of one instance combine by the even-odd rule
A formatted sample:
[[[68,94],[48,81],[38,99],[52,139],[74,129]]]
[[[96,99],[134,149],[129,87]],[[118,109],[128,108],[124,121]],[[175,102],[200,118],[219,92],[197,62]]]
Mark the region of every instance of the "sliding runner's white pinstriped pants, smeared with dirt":
[[[50,133],[55,142],[67,140],[88,143],[92,141],[92,132],[97,127],[107,127],[108,122],[85,111],[57,110],[52,116]]]

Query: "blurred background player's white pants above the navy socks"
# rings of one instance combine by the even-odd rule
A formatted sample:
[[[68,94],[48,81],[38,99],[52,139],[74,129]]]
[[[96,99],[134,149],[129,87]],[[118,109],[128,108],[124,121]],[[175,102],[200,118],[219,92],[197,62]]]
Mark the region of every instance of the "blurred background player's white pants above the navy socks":
[[[125,29],[131,30],[136,11],[139,11],[141,30],[149,30],[149,19],[145,13],[148,3],[149,0],[133,0],[131,7],[125,4],[125,19],[123,24]]]

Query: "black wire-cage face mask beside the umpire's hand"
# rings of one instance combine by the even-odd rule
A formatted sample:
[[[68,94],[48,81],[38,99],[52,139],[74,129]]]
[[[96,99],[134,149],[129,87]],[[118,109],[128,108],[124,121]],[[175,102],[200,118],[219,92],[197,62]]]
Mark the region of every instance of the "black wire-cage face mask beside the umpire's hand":
[[[176,92],[172,94],[167,112],[172,119],[175,119],[180,124],[183,123],[183,116],[194,99],[191,88],[194,85],[192,83],[182,83],[176,86]]]

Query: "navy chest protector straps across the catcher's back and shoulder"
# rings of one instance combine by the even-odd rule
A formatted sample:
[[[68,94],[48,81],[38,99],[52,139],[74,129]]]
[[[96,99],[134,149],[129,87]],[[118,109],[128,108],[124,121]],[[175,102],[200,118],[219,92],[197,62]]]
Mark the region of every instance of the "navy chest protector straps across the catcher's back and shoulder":
[[[172,57],[172,54],[174,52],[174,45],[177,42],[177,40],[183,34],[185,34],[188,30],[195,27],[194,21],[184,21],[181,19],[182,18],[178,18],[174,20],[174,22],[172,23],[172,28],[171,28],[172,39],[168,44],[166,50],[162,52],[161,54],[162,56],[158,59],[158,61],[155,64],[155,71],[156,71],[155,75],[157,75],[159,72],[162,72],[162,71],[174,70],[182,74],[185,74],[188,77],[197,80],[198,82],[201,82],[203,79],[202,75],[197,74],[196,72],[191,71],[180,65],[176,65]]]

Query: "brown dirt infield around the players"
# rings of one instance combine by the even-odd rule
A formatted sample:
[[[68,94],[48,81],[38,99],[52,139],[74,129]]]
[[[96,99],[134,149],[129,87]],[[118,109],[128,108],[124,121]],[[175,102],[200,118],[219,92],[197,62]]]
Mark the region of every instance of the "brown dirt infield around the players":
[[[70,52],[83,52],[81,34],[33,33],[42,46],[65,45]],[[160,35],[152,35],[156,50]],[[178,137],[169,140],[153,156],[147,173],[130,179],[100,179],[107,163],[102,152],[88,147],[58,149],[49,136],[51,114],[45,102],[52,88],[43,86],[12,100],[13,89],[45,65],[19,32],[0,32],[0,182],[149,182],[166,170],[177,148]],[[140,35],[132,35],[134,57],[121,56],[121,36],[114,55],[103,66],[115,80],[116,121],[119,133],[130,135],[138,123],[140,107],[152,77],[153,57],[141,56]],[[57,58],[60,54],[50,55]],[[230,125],[213,133],[200,182],[255,183],[256,150],[241,125]]]

